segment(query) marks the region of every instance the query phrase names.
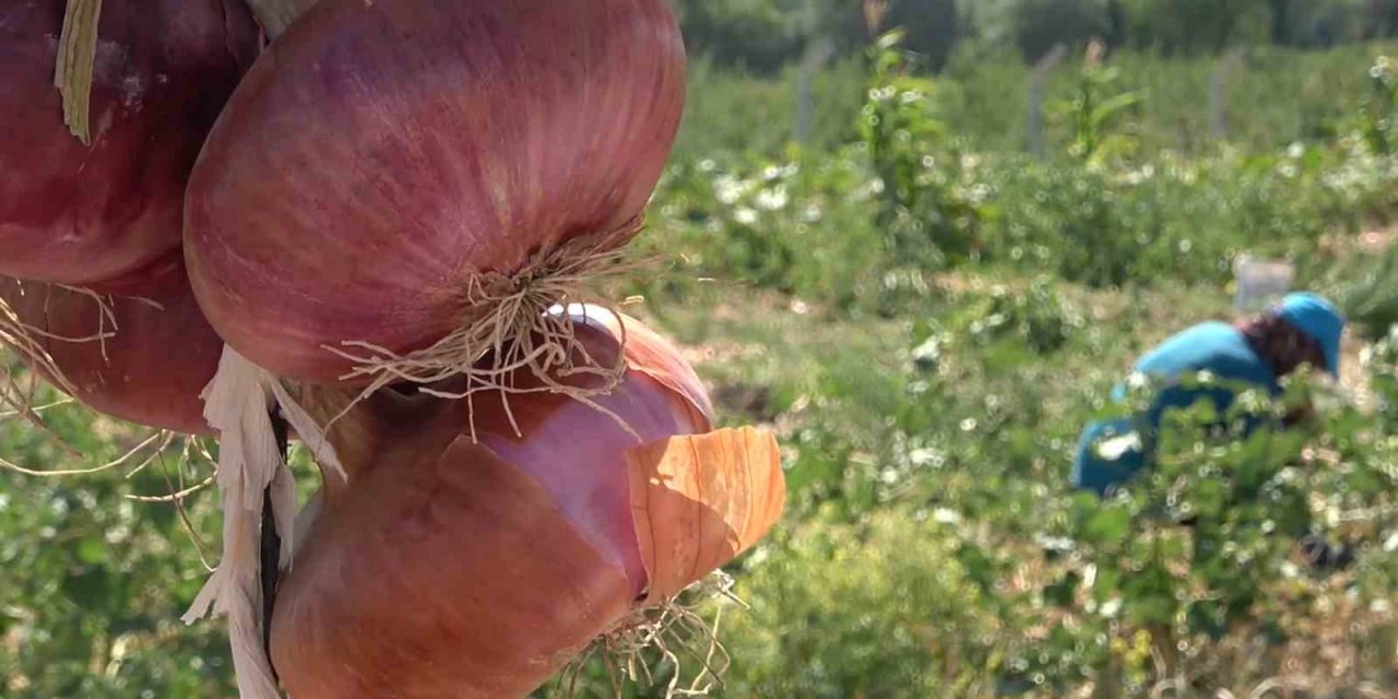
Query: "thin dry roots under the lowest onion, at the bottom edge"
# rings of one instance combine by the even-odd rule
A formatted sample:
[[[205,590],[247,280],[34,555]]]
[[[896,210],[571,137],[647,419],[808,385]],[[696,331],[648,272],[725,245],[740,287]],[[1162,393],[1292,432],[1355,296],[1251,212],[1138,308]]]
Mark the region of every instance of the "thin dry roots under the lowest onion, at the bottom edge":
[[[563,670],[555,693],[569,699],[576,696],[587,661],[598,657],[618,698],[624,696],[628,684],[654,686],[656,665],[670,665],[665,699],[707,696],[723,686],[723,675],[733,661],[719,642],[723,608],[714,612],[712,625],[699,615],[702,605],[719,598],[745,607],[733,593],[733,577],[721,570],[674,598],[633,610]],[[698,671],[686,681],[684,671],[692,664],[698,664]]]

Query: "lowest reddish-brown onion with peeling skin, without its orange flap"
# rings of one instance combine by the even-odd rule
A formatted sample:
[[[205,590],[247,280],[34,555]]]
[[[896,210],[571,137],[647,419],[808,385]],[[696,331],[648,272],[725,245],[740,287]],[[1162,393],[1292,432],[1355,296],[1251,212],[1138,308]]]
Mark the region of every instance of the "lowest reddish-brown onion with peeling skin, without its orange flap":
[[[614,324],[582,337],[615,356]],[[632,368],[600,407],[644,442],[710,429],[703,387],[674,348],[629,320],[626,355]],[[675,361],[639,363],[647,355]],[[344,400],[330,389],[306,398],[313,412]],[[498,393],[379,391],[334,428],[350,485],[327,478],[273,625],[292,696],[524,696],[643,594],[626,467],[637,435],[562,396],[509,405],[523,436]]]

